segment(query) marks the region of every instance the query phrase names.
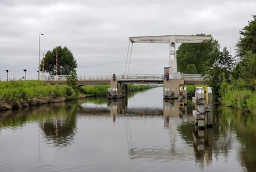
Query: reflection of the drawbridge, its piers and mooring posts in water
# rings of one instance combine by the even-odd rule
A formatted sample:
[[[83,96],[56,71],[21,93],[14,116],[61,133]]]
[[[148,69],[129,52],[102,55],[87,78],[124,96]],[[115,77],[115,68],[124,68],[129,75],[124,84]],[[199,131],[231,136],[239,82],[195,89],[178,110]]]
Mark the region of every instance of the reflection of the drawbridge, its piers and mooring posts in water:
[[[110,114],[113,123],[117,122],[118,117],[127,117],[124,122],[125,132],[127,136],[128,154],[130,159],[158,159],[158,160],[192,160],[196,158],[196,163],[199,167],[204,168],[205,165],[212,164],[212,146],[213,146],[213,130],[200,130],[194,124],[194,117],[191,109],[188,112],[187,106],[180,105],[177,100],[163,100],[163,108],[143,108],[132,107],[127,108],[127,98],[120,98],[116,100],[108,100],[107,106],[101,106],[94,111],[95,107],[87,106],[81,108],[79,114]],[[169,146],[165,147],[145,147],[133,145],[132,126],[129,123],[129,117],[163,117],[163,128],[168,131]],[[186,128],[185,133],[183,128]],[[151,134],[151,133],[148,133]],[[141,136],[142,137],[142,136]],[[183,146],[180,148],[180,138],[190,138],[188,143],[193,147],[191,151],[190,146]],[[186,139],[185,139],[186,140]],[[187,141],[187,140],[186,140]]]

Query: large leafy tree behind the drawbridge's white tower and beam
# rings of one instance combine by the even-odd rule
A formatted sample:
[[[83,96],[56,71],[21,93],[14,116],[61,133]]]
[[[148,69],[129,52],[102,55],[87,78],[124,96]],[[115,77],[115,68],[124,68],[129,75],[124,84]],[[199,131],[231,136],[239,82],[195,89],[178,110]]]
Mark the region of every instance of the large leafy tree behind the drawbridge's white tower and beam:
[[[205,34],[196,36],[205,36]],[[208,43],[182,43],[177,50],[177,68],[179,72],[187,73],[188,65],[193,64],[196,66],[194,70],[196,74],[205,74],[207,67],[212,67],[218,56],[219,43],[213,38]]]

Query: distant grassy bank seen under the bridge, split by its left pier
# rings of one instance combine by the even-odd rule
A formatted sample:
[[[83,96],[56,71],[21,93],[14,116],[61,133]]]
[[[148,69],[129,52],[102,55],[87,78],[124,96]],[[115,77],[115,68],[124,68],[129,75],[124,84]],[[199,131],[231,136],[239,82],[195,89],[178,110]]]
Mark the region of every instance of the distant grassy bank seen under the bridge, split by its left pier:
[[[154,88],[155,86],[149,86],[149,85],[133,85],[128,84],[127,88],[128,91],[142,91],[146,89]],[[85,94],[94,94],[99,97],[107,96],[107,90],[110,88],[109,85],[104,86],[82,86],[80,87],[80,90],[84,92]]]

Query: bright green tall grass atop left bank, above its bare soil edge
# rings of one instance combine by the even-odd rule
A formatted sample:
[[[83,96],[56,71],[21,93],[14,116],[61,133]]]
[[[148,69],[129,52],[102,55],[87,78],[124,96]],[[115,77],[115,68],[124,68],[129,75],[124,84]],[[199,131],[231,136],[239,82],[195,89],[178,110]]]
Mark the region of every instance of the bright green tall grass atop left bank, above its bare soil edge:
[[[66,100],[77,97],[73,88],[67,85],[51,85],[41,81],[0,82],[0,101],[21,102],[40,98],[58,98]]]

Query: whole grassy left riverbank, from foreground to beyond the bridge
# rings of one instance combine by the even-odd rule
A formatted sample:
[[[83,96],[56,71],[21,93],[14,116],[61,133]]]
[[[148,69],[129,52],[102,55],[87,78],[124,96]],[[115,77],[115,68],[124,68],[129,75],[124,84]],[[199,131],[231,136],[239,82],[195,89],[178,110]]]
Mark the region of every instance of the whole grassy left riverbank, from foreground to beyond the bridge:
[[[128,85],[128,91],[141,91],[155,86]],[[79,92],[68,85],[51,85],[41,81],[0,82],[0,111],[37,106],[61,101],[107,96],[109,86],[82,86]]]

